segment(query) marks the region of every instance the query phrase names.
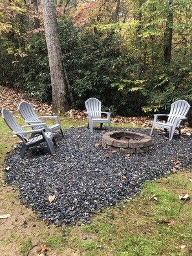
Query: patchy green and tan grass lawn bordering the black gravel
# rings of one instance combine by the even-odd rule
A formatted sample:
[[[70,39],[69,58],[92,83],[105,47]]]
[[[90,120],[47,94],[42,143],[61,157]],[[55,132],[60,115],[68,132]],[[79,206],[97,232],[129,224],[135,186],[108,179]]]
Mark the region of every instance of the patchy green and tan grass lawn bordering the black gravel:
[[[18,122],[22,123],[17,117]],[[63,129],[85,126],[87,121],[59,118]],[[120,126],[120,125],[116,125]],[[126,127],[130,127],[127,125]],[[0,118],[0,164],[16,142]],[[39,219],[30,208],[22,206],[18,192],[0,182],[1,213],[10,212],[12,219],[0,220],[0,254],[17,251],[17,255],[38,255],[37,248],[46,244],[48,255],[67,256],[189,256],[192,255],[191,171],[174,173],[156,182],[145,182],[140,196],[102,209],[91,224],[56,227]],[[14,186],[15,188],[16,186]],[[14,202],[14,204],[13,204]],[[16,221],[17,219],[17,221]],[[27,220],[27,228],[23,221]]]

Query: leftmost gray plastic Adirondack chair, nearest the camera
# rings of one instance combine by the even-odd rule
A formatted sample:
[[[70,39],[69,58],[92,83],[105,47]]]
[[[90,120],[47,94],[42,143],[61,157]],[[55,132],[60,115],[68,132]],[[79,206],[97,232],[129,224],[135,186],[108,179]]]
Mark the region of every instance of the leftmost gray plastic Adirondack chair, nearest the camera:
[[[14,116],[12,115],[12,113],[6,109],[2,109],[2,116],[3,116],[3,119],[5,120],[5,123],[8,125],[8,127],[23,142],[21,145],[21,151],[20,151],[21,158],[23,158],[25,151],[29,147],[40,144],[41,142],[46,142],[52,155],[56,155],[56,152],[54,150],[54,145],[56,146],[56,141],[51,132],[44,132],[45,130],[45,127],[43,126],[44,123],[41,123],[41,126],[39,126],[40,127],[39,129],[33,129],[31,131],[23,131],[23,128],[28,128],[28,127],[34,128],[34,125],[19,126],[16,120],[14,119]],[[27,134],[33,134],[34,136],[32,136],[31,138],[28,138]]]

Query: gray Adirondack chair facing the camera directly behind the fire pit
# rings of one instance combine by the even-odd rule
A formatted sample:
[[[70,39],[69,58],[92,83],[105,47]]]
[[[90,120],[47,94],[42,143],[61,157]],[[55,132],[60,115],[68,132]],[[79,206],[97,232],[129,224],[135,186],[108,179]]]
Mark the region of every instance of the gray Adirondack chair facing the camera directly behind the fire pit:
[[[89,98],[85,101],[85,107],[87,114],[89,116],[89,124],[88,127],[92,132],[93,124],[100,123],[100,127],[102,127],[103,123],[108,123],[109,131],[111,130],[111,112],[102,112],[101,111],[101,101],[96,98]],[[106,118],[101,118],[101,114],[106,114]]]

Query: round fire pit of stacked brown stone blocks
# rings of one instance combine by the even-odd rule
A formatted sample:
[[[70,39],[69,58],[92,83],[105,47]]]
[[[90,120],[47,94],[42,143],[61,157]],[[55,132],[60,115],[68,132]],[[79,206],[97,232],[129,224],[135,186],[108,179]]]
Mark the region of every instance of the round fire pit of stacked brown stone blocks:
[[[114,131],[103,134],[102,145],[109,151],[127,154],[145,153],[151,149],[151,136],[131,131]]]

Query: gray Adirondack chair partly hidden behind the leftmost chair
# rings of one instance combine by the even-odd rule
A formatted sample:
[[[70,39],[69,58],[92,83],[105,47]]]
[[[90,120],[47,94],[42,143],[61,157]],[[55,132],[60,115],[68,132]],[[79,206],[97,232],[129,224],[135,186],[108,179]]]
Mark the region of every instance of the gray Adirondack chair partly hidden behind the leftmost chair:
[[[45,122],[46,118],[54,119],[55,124],[51,125],[51,126],[45,125],[45,131],[53,132],[53,131],[60,129],[61,136],[64,138],[63,131],[61,129],[61,125],[59,123],[58,116],[37,116],[36,112],[34,111],[34,107],[26,101],[22,101],[19,104],[18,110],[19,110],[19,113],[21,114],[21,116],[25,119],[25,122],[27,122],[28,124],[42,123],[43,121]],[[41,119],[43,119],[43,120],[41,120]],[[34,129],[39,129],[39,125],[35,125]]]

